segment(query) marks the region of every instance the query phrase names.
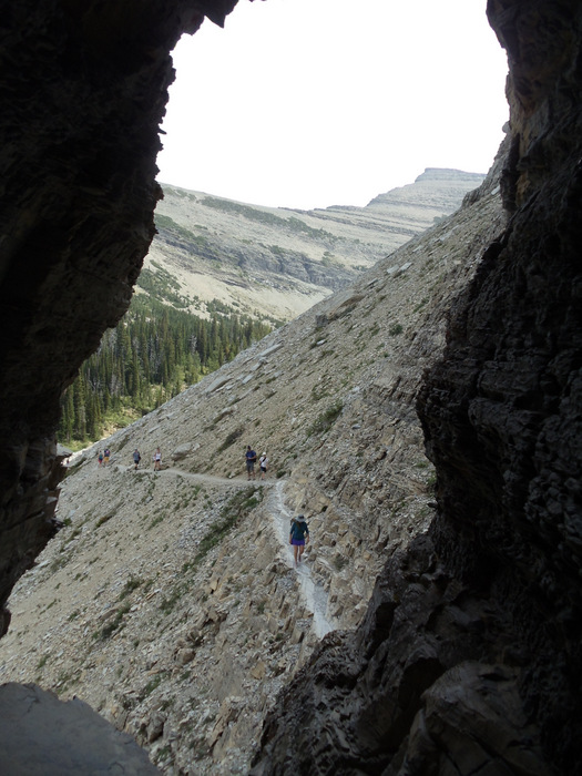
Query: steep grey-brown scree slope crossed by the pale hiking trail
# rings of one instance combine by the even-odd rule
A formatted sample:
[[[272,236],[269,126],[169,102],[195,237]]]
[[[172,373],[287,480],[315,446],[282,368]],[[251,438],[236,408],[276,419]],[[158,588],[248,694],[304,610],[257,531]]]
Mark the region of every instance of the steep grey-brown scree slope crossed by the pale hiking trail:
[[[386,559],[428,525],[416,395],[451,296],[502,225],[488,180],[354,285],[113,435],[110,467],[96,446],[76,458],[64,528],[11,599],[0,678],[81,697],[166,773],[247,773],[278,693],[323,635],[361,622]],[[266,481],[247,481],[247,443],[267,452]],[[313,543],[294,569],[298,511]]]

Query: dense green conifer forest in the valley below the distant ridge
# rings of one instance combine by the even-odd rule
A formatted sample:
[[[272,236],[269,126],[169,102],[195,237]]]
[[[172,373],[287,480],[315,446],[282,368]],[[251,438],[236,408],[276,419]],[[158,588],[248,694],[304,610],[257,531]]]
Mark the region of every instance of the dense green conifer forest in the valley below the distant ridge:
[[[59,441],[82,447],[133,422],[270,331],[222,303],[208,307],[206,320],[134,296],[63,394]]]

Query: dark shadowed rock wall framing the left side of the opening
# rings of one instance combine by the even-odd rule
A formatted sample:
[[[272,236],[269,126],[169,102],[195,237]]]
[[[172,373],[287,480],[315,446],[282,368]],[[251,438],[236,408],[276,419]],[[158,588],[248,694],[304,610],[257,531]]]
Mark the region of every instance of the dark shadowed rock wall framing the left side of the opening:
[[[59,397],[154,234],[170,50],[236,0],[22,0],[0,14],[0,635],[54,532]]]

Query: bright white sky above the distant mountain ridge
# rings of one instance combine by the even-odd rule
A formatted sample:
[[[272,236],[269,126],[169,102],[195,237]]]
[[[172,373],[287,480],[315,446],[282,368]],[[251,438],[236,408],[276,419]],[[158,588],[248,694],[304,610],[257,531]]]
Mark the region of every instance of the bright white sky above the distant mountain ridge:
[[[487,172],[509,118],[486,0],[239,0],[174,51],[159,180],[252,204],[366,205]]]

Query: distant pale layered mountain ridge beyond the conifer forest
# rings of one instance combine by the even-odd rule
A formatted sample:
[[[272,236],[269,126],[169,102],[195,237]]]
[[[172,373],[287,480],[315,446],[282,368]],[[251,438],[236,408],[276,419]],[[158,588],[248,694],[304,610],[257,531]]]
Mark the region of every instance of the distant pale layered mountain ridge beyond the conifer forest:
[[[435,221],[483,180],[426,170],[366,207],[293,211],[249,205],[164,185],[149,273],[204,313],[217,299],[253,316],[288,320],[354,280]]]

